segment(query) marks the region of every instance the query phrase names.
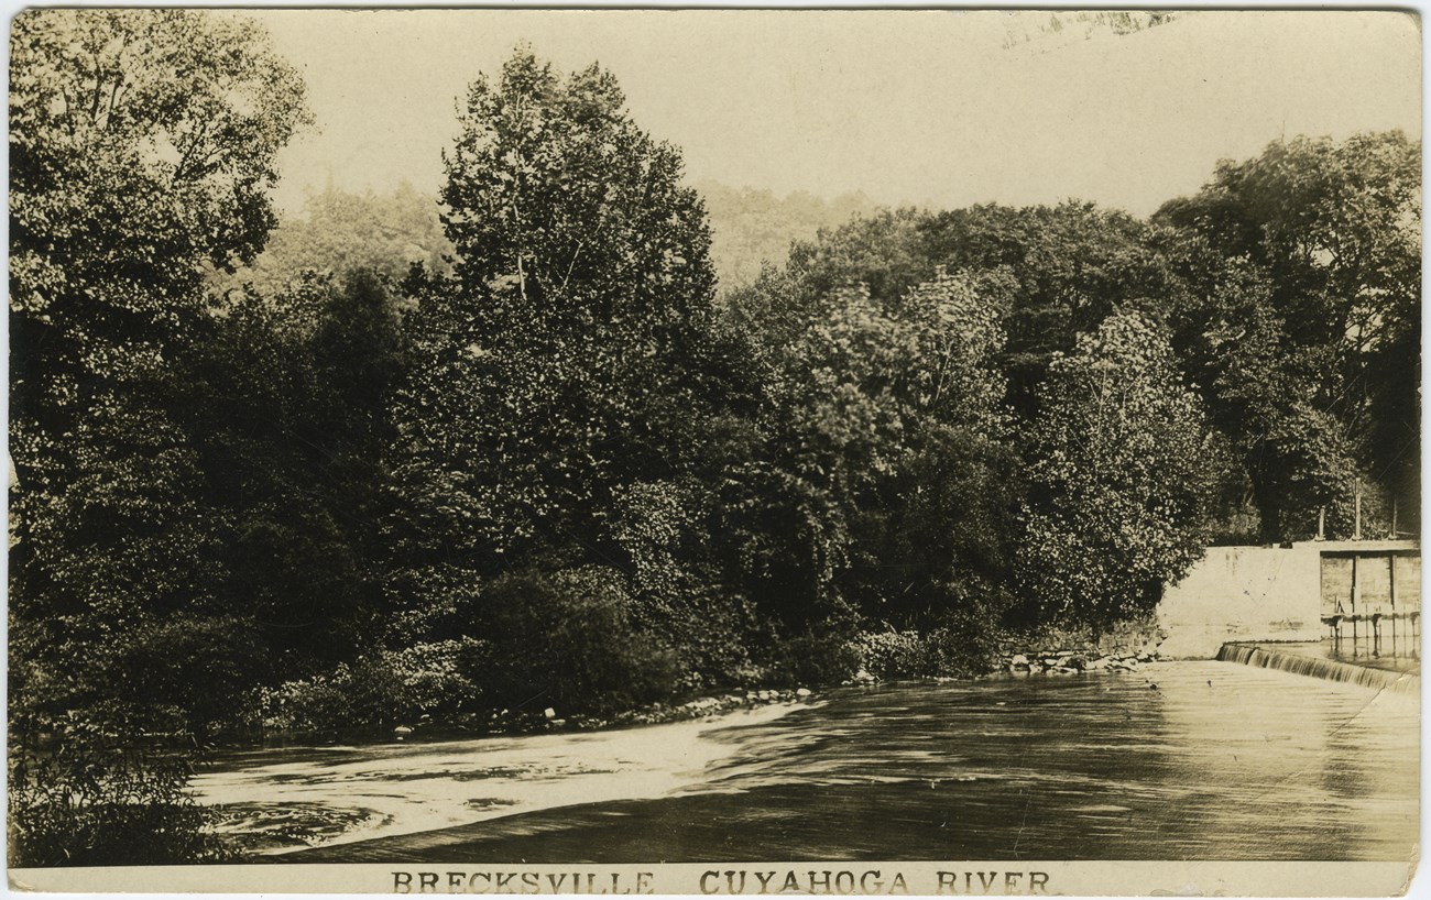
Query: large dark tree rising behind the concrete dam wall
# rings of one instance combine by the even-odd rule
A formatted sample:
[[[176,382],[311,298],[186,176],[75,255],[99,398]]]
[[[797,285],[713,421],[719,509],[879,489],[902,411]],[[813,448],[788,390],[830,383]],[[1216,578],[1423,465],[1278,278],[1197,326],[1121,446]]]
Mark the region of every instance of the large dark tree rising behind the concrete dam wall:
[[[1215,372],[1201,383],[1248,461],[1264,538],[1312,534],[1321,507],[1332,534],[1349,534],[1358,479],[1400,498],[1414,529],[1420,142],[1400,132],[1274,142],[1219,163],[1198,195],[1155,219],[1195,245],[1181,343],[1195,368]],[[1258,371],[1239,361],[1249,342]]]

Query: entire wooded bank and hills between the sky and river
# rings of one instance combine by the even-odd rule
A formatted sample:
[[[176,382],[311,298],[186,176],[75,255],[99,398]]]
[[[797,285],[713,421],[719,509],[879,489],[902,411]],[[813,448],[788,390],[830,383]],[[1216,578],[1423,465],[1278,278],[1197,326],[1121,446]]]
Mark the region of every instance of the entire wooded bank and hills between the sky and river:
[[[222,859],[218,744],[969,677],[1209,544],[1420,529],[1400,132],[1148,219],[713,186],[713,233],[612,73],[518,47],[441,196],[279,226],[312,117],[258,26],[34,11],[10,50],[20,864]]]

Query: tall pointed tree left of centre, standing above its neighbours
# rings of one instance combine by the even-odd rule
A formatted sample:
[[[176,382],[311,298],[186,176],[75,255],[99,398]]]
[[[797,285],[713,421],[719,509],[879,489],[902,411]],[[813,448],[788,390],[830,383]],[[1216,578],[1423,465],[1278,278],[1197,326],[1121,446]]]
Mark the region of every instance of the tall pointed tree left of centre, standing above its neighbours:
[[[600,67],[561,77],[525,49],[468,93],[442,190],[455,273],[408,282],[392,541],[414,618],[512,567],[611,565],[620,497],[693,476],[751,402],[700,199],[624,104]]]

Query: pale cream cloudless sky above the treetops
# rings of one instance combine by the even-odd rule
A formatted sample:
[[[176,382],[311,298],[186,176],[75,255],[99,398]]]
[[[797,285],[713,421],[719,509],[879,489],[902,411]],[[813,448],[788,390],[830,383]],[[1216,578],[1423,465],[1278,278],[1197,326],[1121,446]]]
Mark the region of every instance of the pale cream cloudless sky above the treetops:
[[[1282,136],[1421,136],[1421,34],[1401,13],[1205,10],[1123,36],[1050,33],[1046,10],[246,14],[318,120],[280,157],[292,212],[329,180],[435,193],[458,97],[524,40],[562,70],[611,70],[688,180],[776,193],[1148,215]]]

